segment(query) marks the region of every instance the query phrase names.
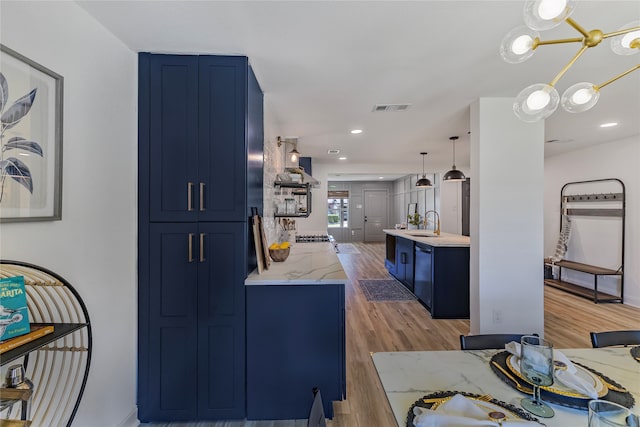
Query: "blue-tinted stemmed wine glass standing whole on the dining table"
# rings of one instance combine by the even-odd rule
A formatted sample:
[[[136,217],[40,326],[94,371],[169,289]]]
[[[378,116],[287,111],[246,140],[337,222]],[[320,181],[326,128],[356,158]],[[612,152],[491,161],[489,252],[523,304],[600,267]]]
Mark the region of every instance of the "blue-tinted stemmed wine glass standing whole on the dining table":
[[[520,344],[520,372],[533,385],[533,397],[522,399],[520,404],[534,415],[551,418],[553,409],[540,399],[540,386],[553,384],[553,345],[534,335],[523,336]]]

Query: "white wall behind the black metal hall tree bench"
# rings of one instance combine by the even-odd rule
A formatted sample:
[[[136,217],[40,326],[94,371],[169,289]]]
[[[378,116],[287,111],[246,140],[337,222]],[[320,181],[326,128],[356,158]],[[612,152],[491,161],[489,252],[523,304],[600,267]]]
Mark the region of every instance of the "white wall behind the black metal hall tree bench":
[[[626,187],[626,233],[625,233],[625,292],[626,304],[640,307],[640,136],[634,136],[606,144],[587,147],[582,150],[548,157],[545,160],[544,176],[544,248],[545,256],[555,250],[560,229],[560,191],[568,182],[604,178],[618,178]],[[595,192],[595,191],[594,191]],[[583,220],[573,227],[570,248],[573,254],[587,259],[575,261],[609,264],[610,254],[620,252],[620,239],[616,233],[600,233],[612,221],[607,218]],[[615,256],[617,259],[617,256]],[[613,267],[601,265],[602,267]],[[579,281],[579,277],[572,277]],[[592,283],[591,276],[584,277],[585,283]],[[600,287],[601,282],[599,282]],[[606,285],[606,283],[605,283]]]

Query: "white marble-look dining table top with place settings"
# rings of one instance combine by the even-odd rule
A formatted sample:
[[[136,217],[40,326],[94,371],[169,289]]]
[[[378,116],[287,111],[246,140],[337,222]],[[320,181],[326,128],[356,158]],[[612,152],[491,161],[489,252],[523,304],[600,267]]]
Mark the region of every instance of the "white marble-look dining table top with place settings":
[[[602,378],[608,387],[623,390],[624,394],[611,395],[624,397],[631,411],[640,414],[640,363],[632,356],[630,348],[559,350],[574,364],[584,366],[600,375],[599,378]],[[500,349],[396,351],[372,353],[371,357],[398,427],[405,427],[412,407],[425,396],[433,396],[438,392],[456,391],[470,395],[489,395],[495,399],[494,401],[521,410],[520,400],[527,394],[518,391],[512,379],[527,384],[519,377],[510,379],[501,375],[499,369],[495,369],[495,360],[503,356],[504,361],[504,354],[506,352]],[[508,370],[507,373],[511,374]],[[588,400],[585,397],[585,407],[550,403],[555,415],[552,418],[538,419],[547,427],[586,426]],[[580,403],[580,399],[577,401]]]

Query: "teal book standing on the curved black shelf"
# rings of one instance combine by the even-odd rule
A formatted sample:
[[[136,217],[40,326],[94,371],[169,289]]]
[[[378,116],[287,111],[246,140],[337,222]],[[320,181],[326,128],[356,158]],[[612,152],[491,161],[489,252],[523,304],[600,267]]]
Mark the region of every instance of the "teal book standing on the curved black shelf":
[[[24,277],[0,279],[0,340],[28,334],[29,330]]]

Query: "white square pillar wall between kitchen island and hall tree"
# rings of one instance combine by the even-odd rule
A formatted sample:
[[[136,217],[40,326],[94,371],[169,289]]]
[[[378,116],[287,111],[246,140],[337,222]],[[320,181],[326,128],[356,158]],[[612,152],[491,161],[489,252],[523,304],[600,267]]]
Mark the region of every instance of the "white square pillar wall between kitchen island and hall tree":
[[[512,105],[471,105],[472,334],[544,333],[544,123],[520,121]]]

